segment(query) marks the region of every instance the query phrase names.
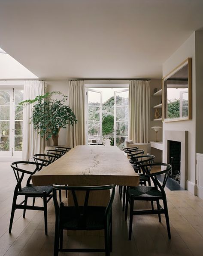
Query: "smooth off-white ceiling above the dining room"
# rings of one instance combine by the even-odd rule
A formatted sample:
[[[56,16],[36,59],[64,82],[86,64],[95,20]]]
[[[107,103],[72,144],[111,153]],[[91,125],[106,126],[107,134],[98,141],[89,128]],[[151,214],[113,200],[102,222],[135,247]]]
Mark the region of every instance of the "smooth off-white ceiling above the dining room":
[[[37,77],[161,78],[203,0],[0,0],[0,47]]]

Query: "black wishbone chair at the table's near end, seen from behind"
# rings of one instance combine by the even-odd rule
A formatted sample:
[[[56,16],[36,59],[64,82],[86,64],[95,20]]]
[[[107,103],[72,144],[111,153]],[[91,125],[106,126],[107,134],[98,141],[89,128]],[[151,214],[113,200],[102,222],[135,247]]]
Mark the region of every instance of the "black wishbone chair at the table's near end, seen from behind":
[[[88,206],[89,194],[96,190],[112,189],[112,194],[107,206]],[[58,205],[57,191],[70,190],[73,194],[74,206],[64,206],[64,203]],[[76,191],[84,191],[85,200],[82,206],[79,206],[76,197]],[[106,256],[112,251],[112,203],[115,194],[115,185],[73,187],[53,185],[53,200],[55,206],[55,244],[54,256],[58,252],[105,252]],[[64,249],[63,248],[63,230],[104,230],[105,249]],[[60,243],[59,243],[60,240]],[[60,244],[60,247],[59,247]]]

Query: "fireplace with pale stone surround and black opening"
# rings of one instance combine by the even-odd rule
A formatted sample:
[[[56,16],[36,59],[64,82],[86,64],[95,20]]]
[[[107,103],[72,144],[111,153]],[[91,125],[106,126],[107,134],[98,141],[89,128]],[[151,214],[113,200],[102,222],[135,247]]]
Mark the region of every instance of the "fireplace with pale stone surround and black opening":
[[[163,161],[172,164],[172,177],[186,189],[188,176],[188,131],[164,131]]]

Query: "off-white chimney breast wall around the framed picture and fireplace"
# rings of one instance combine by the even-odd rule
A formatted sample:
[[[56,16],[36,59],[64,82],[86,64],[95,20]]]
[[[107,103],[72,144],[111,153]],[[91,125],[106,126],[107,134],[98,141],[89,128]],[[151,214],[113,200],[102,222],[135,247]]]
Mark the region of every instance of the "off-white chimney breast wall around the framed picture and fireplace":
[[[188,178],[187,189],[194,193],[195,184],[195,32],[185,41],[184,44],[167,59],[163,64],[163,77],[170,73],[176,66],[183,62],[188,57],[192,58],[192,120],[164,122],[163,123],[163,143],[164,131],[188,131]],[[163,145],[164,146],[164,145]],[[164,147],[163,147],[164,148]],[[167,159],[163,161],[167,162]]]

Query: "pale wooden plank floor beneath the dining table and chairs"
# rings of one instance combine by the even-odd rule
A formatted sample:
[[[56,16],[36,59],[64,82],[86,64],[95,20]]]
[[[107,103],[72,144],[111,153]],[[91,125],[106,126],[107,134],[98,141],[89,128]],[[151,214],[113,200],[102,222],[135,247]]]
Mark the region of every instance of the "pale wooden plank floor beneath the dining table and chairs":
[[[12,234],[8,233],[13,190],[16,181],[9,163],[0,168],[0,256],[53,255],[55,210],[48,203],[48,236],[44,234],[43,212],[15,211]],[[167,190],[167,189],[166,189]],[[203,200],[188,191],[167,190],[172,239],[168,240],[165,217],[158,222],[156,215],[138,215],[133,218],[133,237],[128,241],[128,222],[124,221],[118,190],[113,204],[113,251],[111,256],[202,256],[203,255]],[[64,197],[64,202],[66,201]],[[36,200],[42,205],[42,200]],[[150,207],[139,202],[137,208]],[[103,247],[103,237],[67,237],[69,247]],[[60,256],[103,256],[104,253],[59,253]]]

